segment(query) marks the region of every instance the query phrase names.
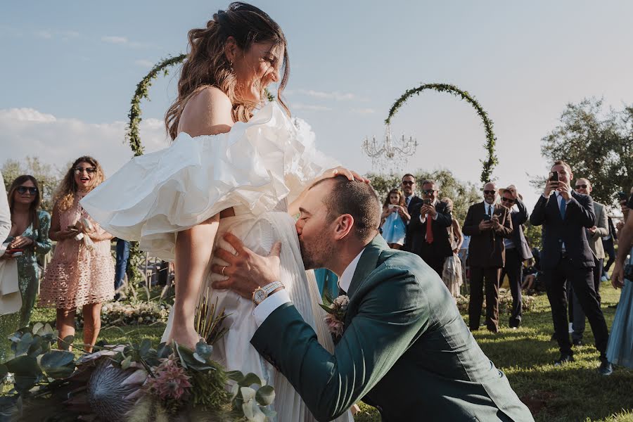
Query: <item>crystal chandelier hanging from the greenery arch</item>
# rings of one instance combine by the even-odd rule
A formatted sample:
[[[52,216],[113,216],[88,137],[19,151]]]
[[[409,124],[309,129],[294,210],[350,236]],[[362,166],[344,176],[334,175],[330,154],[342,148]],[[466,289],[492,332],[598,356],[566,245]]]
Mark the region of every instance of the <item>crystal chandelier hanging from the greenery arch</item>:
[[[373,170],[380,174],[402,172],[409,161],[409,157],[416,153],[418,141],[409,136],[409,139],[395,139],[391,131],[391,125],[385,127],[385,141],[381,145],[376,142],[376,136],[371,141],[366,137],[362,150],[371,158]]]

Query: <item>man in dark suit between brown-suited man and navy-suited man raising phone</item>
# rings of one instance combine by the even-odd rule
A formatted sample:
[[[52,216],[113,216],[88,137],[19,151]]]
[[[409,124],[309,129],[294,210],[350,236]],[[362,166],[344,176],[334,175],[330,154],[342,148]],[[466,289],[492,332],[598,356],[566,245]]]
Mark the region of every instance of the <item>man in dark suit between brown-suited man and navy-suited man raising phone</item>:
[[[521,306],[521,283],[523,282],[523,261],[532,257],[532,250],[523,234],[523,223],[528,221],[528,208],[523,203],[523,198],[516,192],[516,187],[510,185],[499,191],[501,205],[510,210],[512,220],[512,235],[504,240],[506,246],[506,262],[501,271],[501,280],[504,274],[508,274],[510,292],[512,293],[512,313],[510,314],[510,328],[518,328],[523,314]]]

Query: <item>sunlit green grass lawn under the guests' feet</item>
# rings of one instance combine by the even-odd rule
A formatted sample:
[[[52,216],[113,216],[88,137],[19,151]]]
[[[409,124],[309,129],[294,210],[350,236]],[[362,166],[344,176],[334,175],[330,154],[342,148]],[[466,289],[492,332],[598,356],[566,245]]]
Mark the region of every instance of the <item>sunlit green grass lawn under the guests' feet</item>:
[[[603,312],[610,327],[620,290],[602,283]],[[54,321],[53,309],[37,309],[34,322]],[[507,316],[501,317],[507,324]],[[124,326],[103,328],[100,340],[108,344],[139,341],[151,338],[156,344],[164,324],[154,326]],[[591,328],[587,324],[587,345],[575,348],[576,362],[556,368],[558,346],[551,341],[553,333],[549,302],[545,295],[535,300],[535,308],[524,314],[518,330],[502,327],[498,334],[479,331],[475,338],[482,350],[499,369],[506,373],[518,396],[532,409],[537,421],[632,421],[633,371],[617,367],[612,376],[596,373],[598,352],[593,346]],[[77,332],[81,338],[81,331]],[[76,340],[79,346],[79,340]],[[79,352],[77,352],[79,353]],[[421,382],[424,382],[421,380]],[[355,420],[378,422],[380,416],[373,408],[362,404],[362,412]]]

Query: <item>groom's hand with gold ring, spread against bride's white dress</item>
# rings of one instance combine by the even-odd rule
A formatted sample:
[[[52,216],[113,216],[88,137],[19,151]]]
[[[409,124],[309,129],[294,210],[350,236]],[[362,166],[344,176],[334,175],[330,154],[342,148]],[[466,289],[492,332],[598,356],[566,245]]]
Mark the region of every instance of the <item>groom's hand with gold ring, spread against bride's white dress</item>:
[[[246,248],[242,241],[233,234],[226,233],[223,237],[235,248],[236,253],[231,253],[220,246],[215,250],[215,256],[228,265],[213,264],[211,266],[213,273],[226,277],[223,280],[215,281],[212,284],[213,288],[233,290],[238,295],[251,299],[252,293],[258,287],[280,281],[281,242],[276,242],[271,248],[270,254],[267,257],[262,257]]]

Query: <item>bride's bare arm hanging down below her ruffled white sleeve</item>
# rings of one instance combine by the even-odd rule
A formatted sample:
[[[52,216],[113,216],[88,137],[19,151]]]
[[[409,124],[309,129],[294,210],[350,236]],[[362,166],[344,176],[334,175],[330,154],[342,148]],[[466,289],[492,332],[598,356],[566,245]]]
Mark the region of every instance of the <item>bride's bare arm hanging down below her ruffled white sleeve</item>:
[[[219,215],[179,231],[176,238],[176,299],[174,300],[174,324],[169,341],[193,347],[200,337],[193,327],[198,306],[200,283],[211,260],[213,242],[217,233]]]

